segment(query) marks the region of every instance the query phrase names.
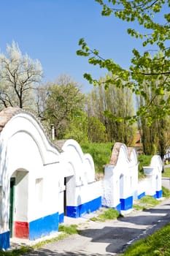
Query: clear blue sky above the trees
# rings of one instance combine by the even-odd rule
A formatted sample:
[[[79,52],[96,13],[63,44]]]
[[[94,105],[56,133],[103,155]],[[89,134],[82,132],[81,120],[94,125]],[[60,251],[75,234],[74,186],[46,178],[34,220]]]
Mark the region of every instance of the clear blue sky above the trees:
[[[76,55],[79,39],[84,37],[101,56],[128,68],[131,50],[140,44],[127,34],[128,26],[113,16],[102,17],[101,6],[94,0],[0,1],[1,52],[15,40],[23,54],[39,59],[44,82],[70,75],[82,84],[84,92],[93,86],[83,73],[99,78],[105,71],[91,67],[88,59]]]

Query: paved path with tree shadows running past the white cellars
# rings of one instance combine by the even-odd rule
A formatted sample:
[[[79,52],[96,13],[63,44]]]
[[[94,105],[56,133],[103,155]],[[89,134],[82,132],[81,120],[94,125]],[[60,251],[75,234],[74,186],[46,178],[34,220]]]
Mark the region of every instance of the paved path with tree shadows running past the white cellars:
[[[119,255],[129,244],[170,222],[170,199],[163,200],[155,208],[132,211],[128,216],[112,221],[92,222],[85,218],[79,221],[82,222],[79,235],[46,244],[28,256]]]

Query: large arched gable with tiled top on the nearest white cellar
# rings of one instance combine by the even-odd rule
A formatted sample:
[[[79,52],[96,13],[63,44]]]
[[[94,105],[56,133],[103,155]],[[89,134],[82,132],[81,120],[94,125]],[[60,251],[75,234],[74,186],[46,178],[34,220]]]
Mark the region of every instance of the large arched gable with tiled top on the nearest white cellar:
[[[22,165],[23,156],[25,166]],[[50,143],[45,130],[32,113],[20,108],[2,110],[0,112],[1,172],[5,174],[7,165],[12,161],[17,162],[19,168],[26,167],[26,162],[31,161],[29,156],[36,156],[37,161],[41,159],[42,165],[59,162],[60,159],[58,148]]]

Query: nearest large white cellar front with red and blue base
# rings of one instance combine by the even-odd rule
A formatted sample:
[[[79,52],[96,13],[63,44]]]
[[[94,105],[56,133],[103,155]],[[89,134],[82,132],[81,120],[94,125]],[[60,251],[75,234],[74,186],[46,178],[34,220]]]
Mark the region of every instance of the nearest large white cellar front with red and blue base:
[[[0,118],[3,121],[5,114],[12,114],[0,134],[0,184],[4,195],[0,202],[0,246],[4,249],[9,246],[10,180],[15,178],[10,233],[34,239],[58,230],[56,184],[61,173],[60,154],[36,118],[18,109],[8,110]]]

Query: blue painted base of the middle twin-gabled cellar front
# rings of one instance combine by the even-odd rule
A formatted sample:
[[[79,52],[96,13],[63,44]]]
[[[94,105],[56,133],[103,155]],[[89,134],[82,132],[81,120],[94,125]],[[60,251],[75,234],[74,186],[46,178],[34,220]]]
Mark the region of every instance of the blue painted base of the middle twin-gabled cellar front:
[[[83,203],[80,206],[66,206],[66,216],[79,218],[82,215],[89,214],[101,208],[101,197],[91,200],[88,203]]]

